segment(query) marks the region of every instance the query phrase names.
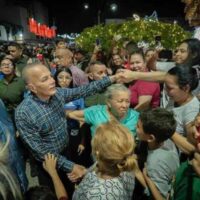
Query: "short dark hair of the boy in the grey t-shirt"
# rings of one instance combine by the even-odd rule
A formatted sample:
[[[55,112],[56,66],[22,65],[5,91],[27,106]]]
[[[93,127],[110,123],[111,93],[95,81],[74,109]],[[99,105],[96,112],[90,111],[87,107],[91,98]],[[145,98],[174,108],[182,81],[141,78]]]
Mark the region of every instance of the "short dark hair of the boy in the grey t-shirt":
[[[164,108],[143,111],[140,114],[140,120],[144,133],[154,135],[157,143],[171,138],[176,130],[173,113]]]

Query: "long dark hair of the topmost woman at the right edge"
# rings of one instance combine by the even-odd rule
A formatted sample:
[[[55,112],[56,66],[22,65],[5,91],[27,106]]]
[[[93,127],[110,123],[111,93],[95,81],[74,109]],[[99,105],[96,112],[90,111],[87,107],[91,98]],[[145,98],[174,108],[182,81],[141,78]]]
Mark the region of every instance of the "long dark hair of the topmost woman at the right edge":
[[[189,56],[185,63],[191,66],[200,65],[200,40],[196,38],[186,39],[181,42],[188,45]]]

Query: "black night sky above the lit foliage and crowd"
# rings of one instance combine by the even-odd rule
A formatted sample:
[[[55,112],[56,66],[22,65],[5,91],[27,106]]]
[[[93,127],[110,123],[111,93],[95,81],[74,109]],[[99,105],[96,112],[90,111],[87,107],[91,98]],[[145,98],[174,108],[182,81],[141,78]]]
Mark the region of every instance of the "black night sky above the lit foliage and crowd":
[[[59,33],[81,32],[88,26],[97,24],[97,10],[102,11],[101,21],[105,18],[131,18],[133,13],[144,17],[157,11],[160,18],[182,18],[184,6],[181,0],[40,0],[49,8],[50,22],[55,21]],[[84,2],[90,4],[88,10],[83,9]],[[111,3],[118,4],[118,11],[109,10]]]

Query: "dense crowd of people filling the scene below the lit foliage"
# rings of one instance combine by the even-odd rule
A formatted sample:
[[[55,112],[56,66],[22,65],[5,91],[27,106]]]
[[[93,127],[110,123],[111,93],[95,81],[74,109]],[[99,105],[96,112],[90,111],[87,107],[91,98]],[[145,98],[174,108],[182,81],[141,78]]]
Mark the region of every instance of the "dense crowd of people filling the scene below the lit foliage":
[[[0,50],[0,200],[199,198],[198,39]]]

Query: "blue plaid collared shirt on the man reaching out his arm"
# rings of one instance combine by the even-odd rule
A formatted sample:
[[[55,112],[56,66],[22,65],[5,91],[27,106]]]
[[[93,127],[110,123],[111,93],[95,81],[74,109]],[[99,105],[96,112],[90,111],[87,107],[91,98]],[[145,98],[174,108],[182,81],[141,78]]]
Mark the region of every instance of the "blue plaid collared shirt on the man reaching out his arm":
[[[60,155],[67,147],[68,133],[64,105],[72,100],[92,95],[111,84],[109,77],[78,88],[57,88],[48,102],[34,95],[28,96],[16,110],[16,125],[21,139],[33,156],[42,161],[44,155],[53,153],[58,158],[58,168],[69,172],[73,163]]]

